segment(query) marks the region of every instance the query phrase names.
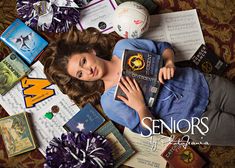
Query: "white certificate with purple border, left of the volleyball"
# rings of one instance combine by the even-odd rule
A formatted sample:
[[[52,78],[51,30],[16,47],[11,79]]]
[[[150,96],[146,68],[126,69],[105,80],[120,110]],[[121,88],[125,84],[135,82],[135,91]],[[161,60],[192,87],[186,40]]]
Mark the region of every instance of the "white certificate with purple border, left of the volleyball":
[[[112,16],[117,4],[115,0],[93,0],[80,12],[79,30],[95,27],[103,33],[113,31]]]

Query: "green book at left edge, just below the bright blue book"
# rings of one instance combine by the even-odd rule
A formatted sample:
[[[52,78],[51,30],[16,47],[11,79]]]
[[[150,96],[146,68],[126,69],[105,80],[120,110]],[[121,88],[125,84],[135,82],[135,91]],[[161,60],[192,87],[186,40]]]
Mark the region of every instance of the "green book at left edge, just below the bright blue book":
[[[11,53],[0,62],[0,94],[4,95],[30,68],[15,54]]]

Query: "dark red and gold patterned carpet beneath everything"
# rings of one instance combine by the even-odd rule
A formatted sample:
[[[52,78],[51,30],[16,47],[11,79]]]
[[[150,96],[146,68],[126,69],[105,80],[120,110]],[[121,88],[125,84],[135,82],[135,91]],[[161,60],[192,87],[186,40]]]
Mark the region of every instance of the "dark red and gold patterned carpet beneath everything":
[[[207,45],[230,66],[224,76],[235,82],[235,1],[229,0],[154,0],[159,6],[155,13],[197,9]],[[17,17],[15,0],[0,1],[0,33]],[[48,38],[52,34],[44,34]],[[0,43],[0,59],[10,52]],[[0,117],[8,114],[0,107]],[[221,128],[222,129],[222,128]],[[207,161],[207,167],[235,167],[235,147],[195,146]],[[0,167],[43,167],[44,158],[38,150],[8,158],[0,138]]]

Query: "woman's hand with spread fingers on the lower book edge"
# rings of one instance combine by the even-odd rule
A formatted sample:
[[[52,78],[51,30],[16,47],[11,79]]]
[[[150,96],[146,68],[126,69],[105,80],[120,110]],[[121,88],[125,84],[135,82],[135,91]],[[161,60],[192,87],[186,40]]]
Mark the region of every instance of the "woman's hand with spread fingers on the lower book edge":
[[[137,112],[146,108],[142,91],[135,79],[132,80],[129,77],[122,77],[119,86],[126,94],[127,98],[123,96],[118,96],[118,98],[126,105],[133,108]]]

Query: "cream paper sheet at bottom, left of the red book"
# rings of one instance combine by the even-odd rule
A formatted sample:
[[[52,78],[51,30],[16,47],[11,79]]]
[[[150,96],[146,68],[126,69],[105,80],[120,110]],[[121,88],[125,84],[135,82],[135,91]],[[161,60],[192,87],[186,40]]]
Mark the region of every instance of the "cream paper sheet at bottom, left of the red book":
[[[166,167],[166,161],[161,156],[161,153],[167,147],[170,140],[169,137],[154,135],[145,138],[130,131],[128,128],[125,128],[123,135],[136,151],[136,154],[127,160],[124,165],[144,168]]]

